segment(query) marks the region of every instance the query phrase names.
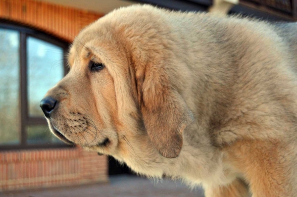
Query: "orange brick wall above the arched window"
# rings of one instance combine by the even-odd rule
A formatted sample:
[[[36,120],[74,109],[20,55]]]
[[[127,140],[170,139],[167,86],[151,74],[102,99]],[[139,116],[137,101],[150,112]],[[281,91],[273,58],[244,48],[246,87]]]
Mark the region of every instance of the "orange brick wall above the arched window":
[[[68,42],[101,16],[103,14],[44,1],[0,0],[0,19],[34,27]]]

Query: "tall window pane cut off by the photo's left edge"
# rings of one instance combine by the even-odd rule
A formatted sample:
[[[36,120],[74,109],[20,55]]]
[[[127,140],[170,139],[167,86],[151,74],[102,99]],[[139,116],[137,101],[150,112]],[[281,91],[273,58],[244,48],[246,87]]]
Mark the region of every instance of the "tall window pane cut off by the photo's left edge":
[[[19,37],[0,29],[0,145],[19,144]]]

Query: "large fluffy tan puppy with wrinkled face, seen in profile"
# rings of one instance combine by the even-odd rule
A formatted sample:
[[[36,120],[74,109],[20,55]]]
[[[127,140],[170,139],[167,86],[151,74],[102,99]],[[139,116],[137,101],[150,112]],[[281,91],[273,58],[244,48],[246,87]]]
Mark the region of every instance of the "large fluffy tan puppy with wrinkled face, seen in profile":
[[[77,36],[41,106],[61,140],[137,173],[297,197],[296,56],[296,23],[131,6]]]

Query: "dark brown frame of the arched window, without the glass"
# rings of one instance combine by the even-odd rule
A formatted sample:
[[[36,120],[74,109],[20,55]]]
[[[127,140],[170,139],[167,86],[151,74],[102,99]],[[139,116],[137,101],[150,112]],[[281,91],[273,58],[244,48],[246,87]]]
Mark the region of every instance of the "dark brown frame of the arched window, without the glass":
[[[66,144],[27,144],[27,126],[34,125],[47,125],[48,123],[45,117],[30,116],[29,115],[29,103],[28,103],[28,61],[27,61],[27,38],[33,37],[42,41],[53,44],[63,49],[63,68],[65,76],[69,69],[67,67],[66,54],[69,48],[69,43],[64,42],[54,36],[50,36],[41,31],[20,26],[13,22],[0,20],[0,28],[14,30],[19,32],[19,144],[17,145],[0,145],[1,150],[11,149],[31,149],[31,148],[69,148],[72,146]]]

